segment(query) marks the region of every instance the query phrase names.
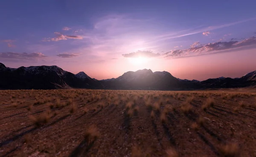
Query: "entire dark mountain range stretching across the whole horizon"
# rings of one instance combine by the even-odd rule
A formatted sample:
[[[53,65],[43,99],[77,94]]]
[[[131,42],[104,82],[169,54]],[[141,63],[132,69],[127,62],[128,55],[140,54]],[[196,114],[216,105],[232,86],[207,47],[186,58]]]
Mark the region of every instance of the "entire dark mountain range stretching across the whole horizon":
[[[97,80],[84,72],[77,74],[57,66],[10,68],[0,63],[0,89],[109,89],[109,90],[198,90],[256,85],[256,71],[241,78],[209,78],[204,81],[175,78],[169,72],[150,69],[128,71],[118,78]]]

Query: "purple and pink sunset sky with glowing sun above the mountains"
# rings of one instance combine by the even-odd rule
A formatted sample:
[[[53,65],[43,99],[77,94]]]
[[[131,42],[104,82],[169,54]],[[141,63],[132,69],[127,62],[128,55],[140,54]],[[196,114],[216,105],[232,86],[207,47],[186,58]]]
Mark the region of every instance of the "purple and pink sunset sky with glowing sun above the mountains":
[[[256,70],[255,0],[2,0],[0,62],[57,65],[107,79],[168,71],[181,79]]]

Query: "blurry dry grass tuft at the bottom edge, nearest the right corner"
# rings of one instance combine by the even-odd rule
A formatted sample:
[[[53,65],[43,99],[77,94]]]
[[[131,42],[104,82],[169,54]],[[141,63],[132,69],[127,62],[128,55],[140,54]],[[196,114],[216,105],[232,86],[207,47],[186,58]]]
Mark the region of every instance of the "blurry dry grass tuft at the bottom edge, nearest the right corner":
[[[239,157],[239,146],[236,143],[229,143],[219,146],[219,151],[223,157]]]

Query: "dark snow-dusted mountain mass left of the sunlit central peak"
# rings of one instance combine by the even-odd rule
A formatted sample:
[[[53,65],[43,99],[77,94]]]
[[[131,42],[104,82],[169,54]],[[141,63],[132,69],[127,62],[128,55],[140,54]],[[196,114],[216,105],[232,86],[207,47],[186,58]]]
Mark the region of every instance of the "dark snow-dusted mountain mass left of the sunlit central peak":
[[[0,89],[102,88],[85,73],[78,77],[55,65],[9,68],[0,63],[0,76]]]

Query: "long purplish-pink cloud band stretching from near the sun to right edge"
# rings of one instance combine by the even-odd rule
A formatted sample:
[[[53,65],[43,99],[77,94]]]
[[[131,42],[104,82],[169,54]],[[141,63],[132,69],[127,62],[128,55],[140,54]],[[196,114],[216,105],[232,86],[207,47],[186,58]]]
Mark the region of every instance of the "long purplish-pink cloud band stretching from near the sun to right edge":
[[[256,45],[256,37],[252,36],[250,38],[229,42],[212,42],[208,44],[200,44],[199,42],[193,43],[190,48],[182,50],[170,50],[163,54],[165,58],[179,58],[179,57],[190,57],[199,56],[204,54],[212,54],[222,52],[223,50],[230,50],[235,48],[244,48],[247,46]]]

